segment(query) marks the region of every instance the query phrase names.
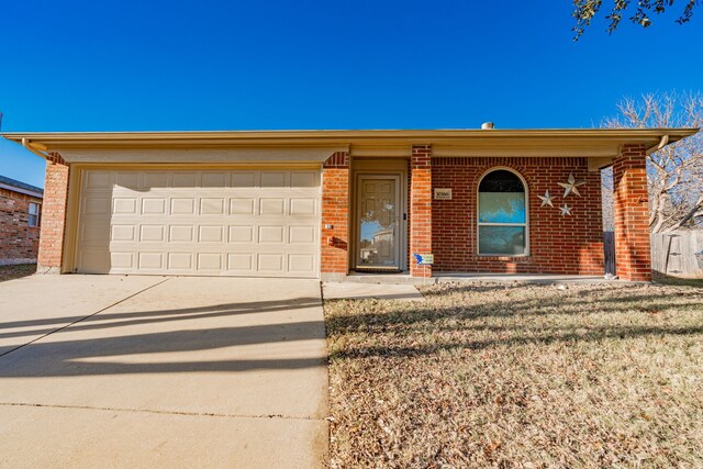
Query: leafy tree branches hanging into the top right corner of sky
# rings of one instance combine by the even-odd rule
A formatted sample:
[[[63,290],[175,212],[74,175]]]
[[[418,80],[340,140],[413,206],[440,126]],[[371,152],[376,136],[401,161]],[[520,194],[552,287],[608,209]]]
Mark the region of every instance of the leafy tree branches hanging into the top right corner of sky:
[[[651,25],[650,16],[652,14],[665,13],[673,8],[674,0],[637,0],[637,7],[633,8],[633,15],[629,18],[635,24],[639,24],[641,27],[649,27]],[[607,26],[609,34],[612,34],[621,21],[623,21],[623,14],[631,10],[632,0],[613,0],[613,8],[610,14],[605,19],[610,22]],[[698,7],[699,0],[680,0],[678,4],[685,3],[683,10],[680,11],[676,22],[679,24],[688,23],[693,16],[693,9]],[[573,0],[573,13],[571,15],[576,19],[576,26],[571,29],[576,33],[573,41],[578,41],[583,34],[585,29],[591,25],[591,21],[603,5],[603,0]]]

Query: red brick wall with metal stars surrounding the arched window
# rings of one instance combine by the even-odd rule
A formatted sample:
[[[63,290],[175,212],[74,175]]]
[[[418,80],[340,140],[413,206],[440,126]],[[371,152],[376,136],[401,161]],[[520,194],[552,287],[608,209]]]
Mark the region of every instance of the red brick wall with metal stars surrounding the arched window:
[[[477,199],[479,179],[495,167],[516,170],[527,182],[529,256],[478,256]],[[562,199],[572,172],[581,197]],[[585,158],[435,158],[433,188],[450,188],[451,200],[433,201],[432,235],[436,271],[603,275],[600,171],[589,171]],[[555,196],[554,208],[537,196]],[[572,206],[561,216],[558,206]]]

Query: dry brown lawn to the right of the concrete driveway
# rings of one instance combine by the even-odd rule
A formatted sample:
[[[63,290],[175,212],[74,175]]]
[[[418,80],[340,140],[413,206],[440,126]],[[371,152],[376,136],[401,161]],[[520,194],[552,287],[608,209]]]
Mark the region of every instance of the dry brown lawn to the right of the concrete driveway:
[[[325,302],[332,467],[703,467],[703,289]]]

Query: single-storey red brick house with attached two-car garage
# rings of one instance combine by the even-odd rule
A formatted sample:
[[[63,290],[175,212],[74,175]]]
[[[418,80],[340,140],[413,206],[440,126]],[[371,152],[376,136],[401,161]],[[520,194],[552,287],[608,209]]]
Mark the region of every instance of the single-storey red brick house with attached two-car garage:
[[[612,166],[617,272],[648,280],[646,154],[695,132],[4,136],[48,161],[46,271],[603,275],[600,169]],[[434,254],[434,265],[419,266],[413,254]]]

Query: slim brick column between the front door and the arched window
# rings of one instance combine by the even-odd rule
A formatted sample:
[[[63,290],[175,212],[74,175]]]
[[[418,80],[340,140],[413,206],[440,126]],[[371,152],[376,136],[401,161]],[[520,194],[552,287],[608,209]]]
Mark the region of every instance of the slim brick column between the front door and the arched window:
[[[415,145],[410,159],[410,275],[432,277],[413,254],[432,253],[432,147]]]

